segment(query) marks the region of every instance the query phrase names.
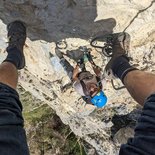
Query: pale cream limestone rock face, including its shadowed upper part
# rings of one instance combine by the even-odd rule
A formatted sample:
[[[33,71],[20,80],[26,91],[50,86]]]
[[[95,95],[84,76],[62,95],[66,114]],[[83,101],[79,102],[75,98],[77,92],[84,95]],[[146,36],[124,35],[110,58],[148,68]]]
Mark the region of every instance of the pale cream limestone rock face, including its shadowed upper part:
[[[126,134],[128,123],[135,123],[137,119],[137,112],[131,113],[136,103],[125,89],[115,91],[107,81],[104,86],[107,106],[103,109],[85,106],[71,87],[64,87],[70,86],[70,80],[55,56],[55,43],[66,42],[62,52],[78,50],[80,46],[90,47],[89,39],[98,34],[126,31],[131,35],[133,64],[154,72],[154,17],[153,0],[3,0],[0,1],[0,60],[6,55],[6,24],[24,21],[28,38],[24,49],[27,65],[19,78],[22,87],[50,105],[98,154],[115,155],[120,147],[117,142],[122,142],[116,140],[117,135],[121,135],[120,129],[123,127]],[[107,59],[95,49],[92,54],[94,61],[104,69]],[[68,60],[75,65],[73,60]],[[113,118],[120,115],[123,125],[119,124],[118,128],[118,121]],[[124,125],[124,119],[130,121]]]

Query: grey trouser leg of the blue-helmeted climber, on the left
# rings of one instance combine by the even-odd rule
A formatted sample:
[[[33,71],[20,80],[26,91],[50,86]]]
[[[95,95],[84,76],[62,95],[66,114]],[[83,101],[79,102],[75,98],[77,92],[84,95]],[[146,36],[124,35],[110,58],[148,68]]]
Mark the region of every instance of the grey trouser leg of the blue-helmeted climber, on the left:
[[[62,58],[60,60],[60,64],[62,65],[62,67],[66,71],[70,80],[72,80],[72,75],[73,75],[73,70],[74,70],[73,66],[71,66],[71,64],[65,58]]]

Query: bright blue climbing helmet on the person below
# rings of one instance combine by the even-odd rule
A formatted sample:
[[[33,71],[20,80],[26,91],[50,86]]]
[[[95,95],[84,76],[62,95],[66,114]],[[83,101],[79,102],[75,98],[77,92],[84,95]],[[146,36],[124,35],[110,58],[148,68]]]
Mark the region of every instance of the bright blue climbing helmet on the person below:
[[[102,108],[107,103],[107,97],[103,93],[103,91],[100,91],[98,94],[96,94],[92,99],[91,103],[98,108]]]

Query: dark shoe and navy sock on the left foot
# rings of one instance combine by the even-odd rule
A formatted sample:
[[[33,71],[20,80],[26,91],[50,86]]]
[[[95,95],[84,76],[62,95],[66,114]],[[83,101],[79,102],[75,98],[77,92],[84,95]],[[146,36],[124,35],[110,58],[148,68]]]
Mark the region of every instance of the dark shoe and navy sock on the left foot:
[[[23,53],[23,47],[26,40],[26,27],[25,24],[21,21],[14,21],[7,26],[8,30],[8,59],[17,69],[22,69],[25,66],[25,56]],[[12,53],[14,52],[14,53]],[[17,61],[17,62],[16,62]]]

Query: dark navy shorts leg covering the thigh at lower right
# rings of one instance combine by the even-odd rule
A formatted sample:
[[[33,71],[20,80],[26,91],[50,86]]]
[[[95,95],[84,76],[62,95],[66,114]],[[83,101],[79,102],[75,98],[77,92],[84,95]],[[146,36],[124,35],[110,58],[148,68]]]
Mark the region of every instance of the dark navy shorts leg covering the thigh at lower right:
[[[131,73],[136,74],[136,71],[133,72],[135,73]],[[134,138],[130,138],[127,144],[121,146],[119,155],[154,155],[154,144],[155,94],[149,96],[145,101],[143,112],[135,128]]]

